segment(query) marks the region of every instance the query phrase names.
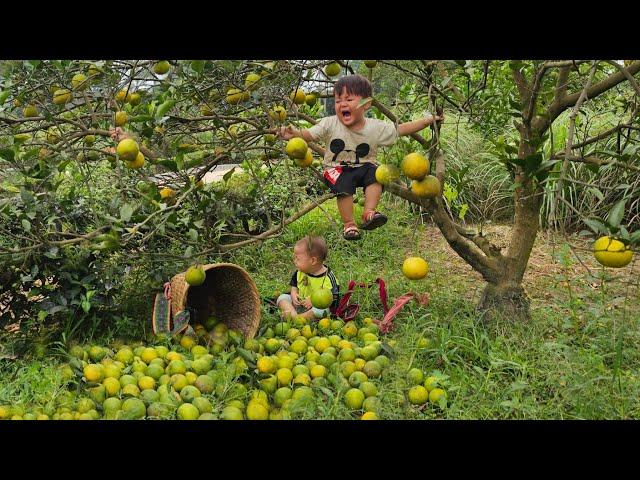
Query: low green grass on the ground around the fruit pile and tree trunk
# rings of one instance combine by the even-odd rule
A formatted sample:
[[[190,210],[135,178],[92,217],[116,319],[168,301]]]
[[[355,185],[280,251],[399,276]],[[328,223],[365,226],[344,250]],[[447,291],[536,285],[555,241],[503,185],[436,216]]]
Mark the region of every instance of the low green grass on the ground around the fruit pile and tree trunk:
[[[362,207],[356,207],[359,216]],[[629,419],[640,417],[640,268],[597,268],[588,242],[540,234],[525,276],[532,319],[486,325],[475,310],[484,287],[432,225],[410,214],[406,204],[384,198],[390,221],[364,232],[360,242],[341,237],[335,202],[293,223],[280,236],[214,261],[245,267],[263,296],[286,288],[293,271],[295,241],[312,232],[329,245],[326,261],[342,289],[350,279],[372,283],[382,277],[389,301],[409,292],[428,292],[428,307],[409,302],[384,337],[395,341],[393,360],[374,381],[384,419]],[[508,227],[486,229],[506,246]],[[421,255],[430,265],[427,278],[405,279],[400,265],[407,255]],[[576,255],[590,269],[586,271]],[[612,276],[615,275],[615,276]],[[381,318],[376,288],[358,290],[358,323]],[[275,324],[265,313],[263,323]],[[117,333],[117,332],[116,332]],[[426,348],[418,339],[428,339]],[[98,339],[94,339],[98,341]],[[107,340],[105,339],[105,342]],[[391,342],[393,343],[393,342]],[[2,352],[0,352],[2,353]],[[0,404],[28,402],[56,394],[55,359],[0,360]],[[419,409],[407,403],[406,372],[420,368],[436,374],[448,394],[448,406]],[[43,372],[43,373],[41,373]],[[297,418],[355,418],[342,394],[327,390],[322,400],[303,406]],[[215,404],[222,408],[222,404]]]

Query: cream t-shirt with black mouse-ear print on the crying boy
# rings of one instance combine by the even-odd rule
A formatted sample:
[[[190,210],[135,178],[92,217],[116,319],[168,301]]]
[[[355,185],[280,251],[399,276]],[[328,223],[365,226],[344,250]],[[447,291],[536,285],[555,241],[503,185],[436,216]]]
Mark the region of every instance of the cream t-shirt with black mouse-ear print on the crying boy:
[[[312,126],[308,132],[314,141],[321,141],[325,144],[325,154],[323,163],[327,166],[347,164],[356,167],[362,163],[375,163],[376,153],[379,146],[392,145],[398,139],[398,129],[396,125],[377,118],[365,118],[364,126],[356,131],[345,127],[336,115],[325,117],[316,125]],[[331,151],[331,143],[334,140],[342,140],[344,149],[336,155]],[[340,142],[336,142],[339,146]],[[368,153],[356,159],[356,149]],[[339,148],[335,148],[339,150]]]

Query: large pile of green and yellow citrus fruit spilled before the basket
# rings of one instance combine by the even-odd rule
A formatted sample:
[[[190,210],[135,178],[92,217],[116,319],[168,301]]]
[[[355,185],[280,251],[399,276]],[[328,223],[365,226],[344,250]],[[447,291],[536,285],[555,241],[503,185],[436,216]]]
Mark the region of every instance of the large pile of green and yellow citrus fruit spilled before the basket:
[[[344,416],[378,419],[392,350],[371,319],[296,317],[254,339],[204,323],[195,336],[70,346],[59,367],[66,388],[43,405],[0,406],[0,419],[276,420],[303,418],[328,398]]]

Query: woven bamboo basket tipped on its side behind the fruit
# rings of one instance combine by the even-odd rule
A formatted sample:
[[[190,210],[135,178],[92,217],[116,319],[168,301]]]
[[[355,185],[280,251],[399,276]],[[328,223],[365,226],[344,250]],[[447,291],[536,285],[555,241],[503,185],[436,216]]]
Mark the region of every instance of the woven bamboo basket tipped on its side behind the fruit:
[[[228,328],[253,338],[260,325],[260,296],[252,278],[233,263],[210,263],[203,268],[206,279],[197,287],[184,279],[186,272],[171,279],[171,314],[188,307],[195,316],[192,324],[214,315]]]

